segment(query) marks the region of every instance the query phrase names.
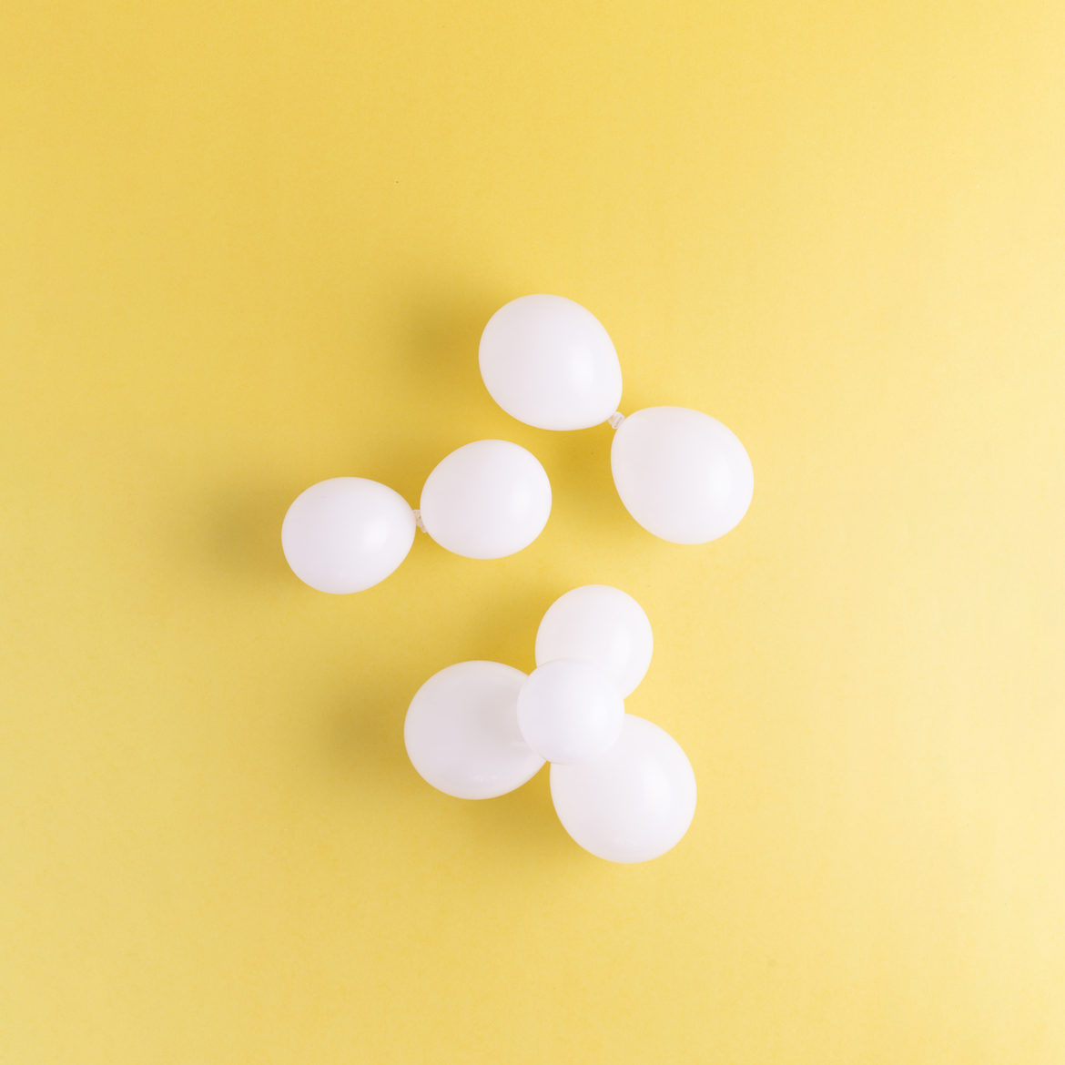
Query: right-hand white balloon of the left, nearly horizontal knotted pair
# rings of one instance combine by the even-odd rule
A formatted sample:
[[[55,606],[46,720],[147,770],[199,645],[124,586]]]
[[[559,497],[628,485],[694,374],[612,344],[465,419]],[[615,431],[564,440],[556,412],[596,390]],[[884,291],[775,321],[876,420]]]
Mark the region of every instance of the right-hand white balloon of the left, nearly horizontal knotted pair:
[[[543,531],[551,481],[524,447],[477,440],[440,461],[420,506],[426,532],[442,547],[469,558],[502,558]]]

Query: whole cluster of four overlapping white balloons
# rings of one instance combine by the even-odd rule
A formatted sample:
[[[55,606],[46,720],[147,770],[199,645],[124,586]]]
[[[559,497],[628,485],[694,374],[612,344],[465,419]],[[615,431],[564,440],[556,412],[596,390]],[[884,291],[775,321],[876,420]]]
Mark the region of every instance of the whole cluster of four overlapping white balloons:
[[[676,740],[625,712],[652,650],[630,595],[574,588],[540,622],[531,673],[465,661],[429,677],[407,710],[407,754],[459,799],[506,794],[551,763],[552,802],[580,847],[609,862],[658,857],[691,824],[695,775]]]

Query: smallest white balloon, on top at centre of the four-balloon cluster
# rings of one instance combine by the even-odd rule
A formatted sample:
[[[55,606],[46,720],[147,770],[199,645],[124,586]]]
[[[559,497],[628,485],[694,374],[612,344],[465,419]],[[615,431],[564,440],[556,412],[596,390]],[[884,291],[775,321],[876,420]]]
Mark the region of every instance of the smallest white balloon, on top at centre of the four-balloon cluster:
[[[592,662],[559,659],[535,669],[518,693],[518,727],[548,761],[602,757],[618,741],[625,703]]]

